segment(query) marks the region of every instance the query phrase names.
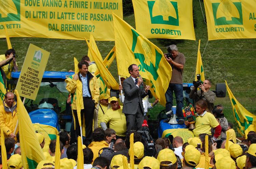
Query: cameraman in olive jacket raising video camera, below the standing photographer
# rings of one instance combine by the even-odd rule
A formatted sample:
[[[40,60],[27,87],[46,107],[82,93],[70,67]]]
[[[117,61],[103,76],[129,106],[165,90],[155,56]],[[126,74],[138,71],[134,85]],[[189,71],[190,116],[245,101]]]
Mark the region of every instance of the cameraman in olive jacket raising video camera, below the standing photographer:
[[[210,90],[212,82],[209,79],[205,79],[203,82],[200,80],[200,75],[197,75],[197,81],[194,81],[194,88],[189,93],[189,98],[195,99],[195,102],[198,100],[205,100],[207,102],[207,107],[212,113],[213,111],[213,102],[215,100],[216,94]],[[200,90],[197,90],[200,88]]]

